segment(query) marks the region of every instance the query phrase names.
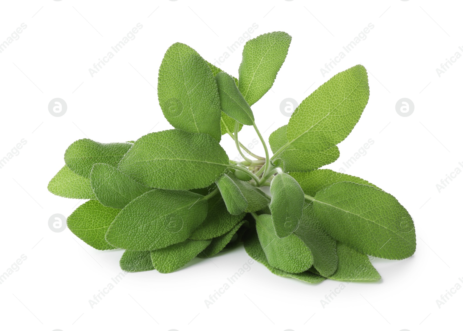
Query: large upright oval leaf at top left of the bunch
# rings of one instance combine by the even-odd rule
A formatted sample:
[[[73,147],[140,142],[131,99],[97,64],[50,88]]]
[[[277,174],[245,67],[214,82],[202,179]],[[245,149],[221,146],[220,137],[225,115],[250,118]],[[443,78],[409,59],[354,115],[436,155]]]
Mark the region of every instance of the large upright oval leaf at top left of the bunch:
[[[175,43],[164,55],[157,83],[159,104],[174,128],[220,141],[220,99],[207,62],[191,47]]]

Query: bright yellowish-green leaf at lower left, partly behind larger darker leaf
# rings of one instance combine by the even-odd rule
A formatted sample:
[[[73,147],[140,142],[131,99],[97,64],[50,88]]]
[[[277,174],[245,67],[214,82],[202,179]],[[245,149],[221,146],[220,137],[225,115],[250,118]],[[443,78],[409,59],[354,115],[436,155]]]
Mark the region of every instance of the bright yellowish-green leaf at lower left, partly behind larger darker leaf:
[[[119,211],[96,200],[88,200],[69,215],[67,224],[69,230],[88,245],[102,251],[114,249],[116,247],[106,242],[105,234]]]

